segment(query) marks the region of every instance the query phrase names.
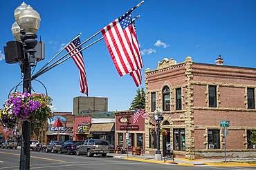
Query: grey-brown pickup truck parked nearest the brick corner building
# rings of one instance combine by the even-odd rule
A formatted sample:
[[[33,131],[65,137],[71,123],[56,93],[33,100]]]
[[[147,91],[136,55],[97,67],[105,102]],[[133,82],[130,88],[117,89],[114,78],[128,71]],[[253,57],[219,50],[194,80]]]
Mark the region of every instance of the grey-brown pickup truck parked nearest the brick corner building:
[[[109,142],[107,140],[101,139],[89,139],[84,140],[82,145],[78,146],[76,149],[77,156],[87,153],[87,156],[91,157],[94,154],[101,154],[102,157],[106,157],[109,153]]]

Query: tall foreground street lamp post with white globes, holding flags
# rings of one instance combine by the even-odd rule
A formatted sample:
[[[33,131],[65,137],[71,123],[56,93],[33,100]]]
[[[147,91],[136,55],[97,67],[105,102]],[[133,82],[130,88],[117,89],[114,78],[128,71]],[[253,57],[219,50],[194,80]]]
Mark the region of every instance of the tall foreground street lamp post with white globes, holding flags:
[[[24,73],[23,92],[31,94],[31,67],[35,66],[35,46],[37,45],[37,30],[39,28],[41,18],[37,11],[26,3],[15,9],[15,20],[12,24],[12,34],[17,42],[15,45],[22,45],[19,49],[21,60],[21,72]],[[10,49],[11,50],[11,49]],[[8,51],[9,52],[9,51]],[[17,60],[17,59],[16,59]],[[14,61],[15,62],[15,61]],[[30,169],[30,122],[22,123],[21,135],[21,155],[19,169]]]

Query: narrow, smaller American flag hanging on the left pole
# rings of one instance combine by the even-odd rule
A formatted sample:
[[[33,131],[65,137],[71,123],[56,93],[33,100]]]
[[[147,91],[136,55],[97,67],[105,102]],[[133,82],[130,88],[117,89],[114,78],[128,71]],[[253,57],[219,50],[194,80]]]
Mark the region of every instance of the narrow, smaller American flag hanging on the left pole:
[[[75,47],[77,47],[80,44],[81,44],[81,41],[80,41],[79,37],[77,37],[77,39],[72,41],[68,45],[68,47],[66,47],[66,51],[71,52],[72,50],[75,49]],[[72,56],[73,54],[78,52],[77,54],[72,56],[72,59],[75,61],[75,64],[77,65],[79,72],[80,72],[80,92],[82,92],[88,96],[88,86],[87,86],[86,72],[85,72],[85,67],[84,67],[84,59],[82,56],[82,52],[79,52],[80,50],[82,50],[82,47],[78,47],[76,50],[69,53],[69,55]]]

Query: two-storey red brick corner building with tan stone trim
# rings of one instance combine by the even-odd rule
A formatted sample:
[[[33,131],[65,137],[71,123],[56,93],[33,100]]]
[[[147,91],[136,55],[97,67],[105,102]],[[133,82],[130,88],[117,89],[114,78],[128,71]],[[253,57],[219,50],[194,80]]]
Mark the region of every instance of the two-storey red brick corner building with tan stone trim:
[[[163,109],[161,151],[170,142],[178,158],[223,158],[224,136],[221,120],[229,120],[226,150],[228,158],[256,156],[250,130],[256,129],[256,69],[172,59],[158,62],[156,70],[145,70],[146,111],[154,115]],[[146,154],[154,154],[156,138],[149,133],[154,121],[145,122]]]

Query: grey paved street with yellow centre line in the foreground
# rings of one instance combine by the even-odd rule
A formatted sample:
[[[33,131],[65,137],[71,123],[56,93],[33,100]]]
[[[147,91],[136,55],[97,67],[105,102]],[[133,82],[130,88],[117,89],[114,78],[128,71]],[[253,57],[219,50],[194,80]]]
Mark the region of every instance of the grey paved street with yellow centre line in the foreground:
[[[0,149],[0,169],[19,169],[19,149]],[[113,158],[60,153],[30,152],[30,169],[256,169],[256,167],[179,166]]]

